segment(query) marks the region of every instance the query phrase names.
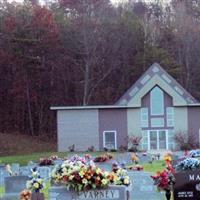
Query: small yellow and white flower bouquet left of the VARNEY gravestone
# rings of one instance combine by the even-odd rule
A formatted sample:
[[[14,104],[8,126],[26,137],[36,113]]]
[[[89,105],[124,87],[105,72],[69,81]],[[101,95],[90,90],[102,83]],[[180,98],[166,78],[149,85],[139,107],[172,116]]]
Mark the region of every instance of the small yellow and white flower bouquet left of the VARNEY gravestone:
[[[33,192],[40,192],[40,190],[43,189],[44,182],[36,168],[32,169],[32,176],[30,180],[26,182],[26,187]]]

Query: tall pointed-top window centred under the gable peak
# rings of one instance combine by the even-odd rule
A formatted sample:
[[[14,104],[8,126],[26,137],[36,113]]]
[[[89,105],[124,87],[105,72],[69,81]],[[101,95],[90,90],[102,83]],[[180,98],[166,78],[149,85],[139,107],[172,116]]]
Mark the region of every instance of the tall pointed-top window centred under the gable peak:
[[[164,94],[158,87],[154,87],[150,94],[151,115],[164,115]]]

